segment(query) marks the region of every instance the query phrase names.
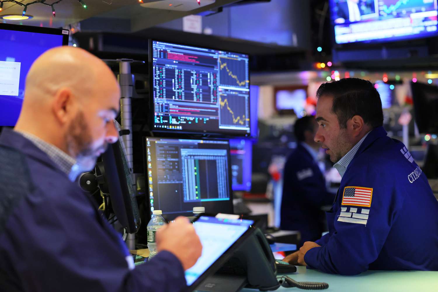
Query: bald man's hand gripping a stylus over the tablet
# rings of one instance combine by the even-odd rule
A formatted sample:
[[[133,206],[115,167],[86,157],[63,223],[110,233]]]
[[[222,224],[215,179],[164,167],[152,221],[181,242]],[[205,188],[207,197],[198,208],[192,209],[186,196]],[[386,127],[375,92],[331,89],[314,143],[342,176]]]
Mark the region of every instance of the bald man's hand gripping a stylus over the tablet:
[[[158,229],[157,249],[173,253],[184,267],[192,267],[202,253],[202,245],[193,225],[185,217]]]

